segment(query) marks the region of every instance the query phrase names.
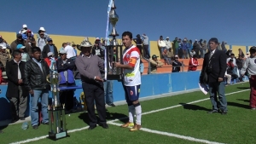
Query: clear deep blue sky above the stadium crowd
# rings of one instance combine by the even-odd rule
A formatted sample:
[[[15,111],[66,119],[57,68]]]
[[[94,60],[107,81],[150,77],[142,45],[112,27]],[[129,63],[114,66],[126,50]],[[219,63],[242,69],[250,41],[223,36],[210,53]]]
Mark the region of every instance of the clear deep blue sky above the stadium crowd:
[[[33,32],[105,37],[108,0],[1,0],[0,31],[18,32],[26,24]],[[121,35],[146,33],[163,37],[209,39],[233,45],[256,45],[255,0],[115,0]],[[1,33],[0,33],[1,34]],[[4,37],[4,36],[3,36]],[[9,42],[10,43],[10,42]]]

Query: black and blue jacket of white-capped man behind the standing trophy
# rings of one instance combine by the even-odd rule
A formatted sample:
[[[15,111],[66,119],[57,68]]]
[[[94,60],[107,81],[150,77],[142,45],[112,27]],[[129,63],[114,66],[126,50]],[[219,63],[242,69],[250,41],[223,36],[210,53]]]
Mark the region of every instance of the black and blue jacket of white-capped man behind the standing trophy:
[[[75,79],[73,77],[73,68],[75,66],[73,60],[67,59],[67,63],[63,63],[63,60],[56,61],[57,69],[60,74],[60,84],[74,84]],[[67,71],[67,81],[64,72]]]

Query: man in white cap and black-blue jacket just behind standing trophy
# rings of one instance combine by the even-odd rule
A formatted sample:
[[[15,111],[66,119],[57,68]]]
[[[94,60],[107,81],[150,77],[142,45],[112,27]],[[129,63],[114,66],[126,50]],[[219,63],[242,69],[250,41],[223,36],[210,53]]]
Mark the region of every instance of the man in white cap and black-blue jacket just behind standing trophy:
[[[73,86],[75,85],[75,79],[73,77],[73,69],[75,64],[73,60],[67,59],[66,50],[60,50],[59,55],[61,56],[61,59],[56,61],[57,70],[61,78],[59,86]],[[64,90],[60,93],[60,102],[61,104],[65,103],[65,109],[67,111],[73,109],[73,95],[73,89]]]

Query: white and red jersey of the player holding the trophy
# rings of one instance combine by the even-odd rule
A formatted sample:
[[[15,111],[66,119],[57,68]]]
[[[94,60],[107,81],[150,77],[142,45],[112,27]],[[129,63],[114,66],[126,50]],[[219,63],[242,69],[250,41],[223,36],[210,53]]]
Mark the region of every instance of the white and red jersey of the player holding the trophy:
[[[129,64],[133,69],[124,69],[124,84],[125,86],[136,86],[141,84],[140,72],[140,50],[132,45],[125,49],[123,53],[124,65]]]

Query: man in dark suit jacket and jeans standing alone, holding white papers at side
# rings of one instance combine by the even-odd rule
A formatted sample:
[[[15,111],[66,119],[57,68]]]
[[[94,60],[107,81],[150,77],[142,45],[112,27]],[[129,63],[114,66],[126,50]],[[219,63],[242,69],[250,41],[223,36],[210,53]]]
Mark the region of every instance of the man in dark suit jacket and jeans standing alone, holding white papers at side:
[[[226,55],[223,50],[218,50],[218,39],[213,37],[209,40],[210,51],[205,55],[200,83],[208,84],[210,100],[212,102],[212,111],[227,114],[227,101],[224,90],[224,74],[227,68]],[[218,93],[218,97],[217,97]]]

